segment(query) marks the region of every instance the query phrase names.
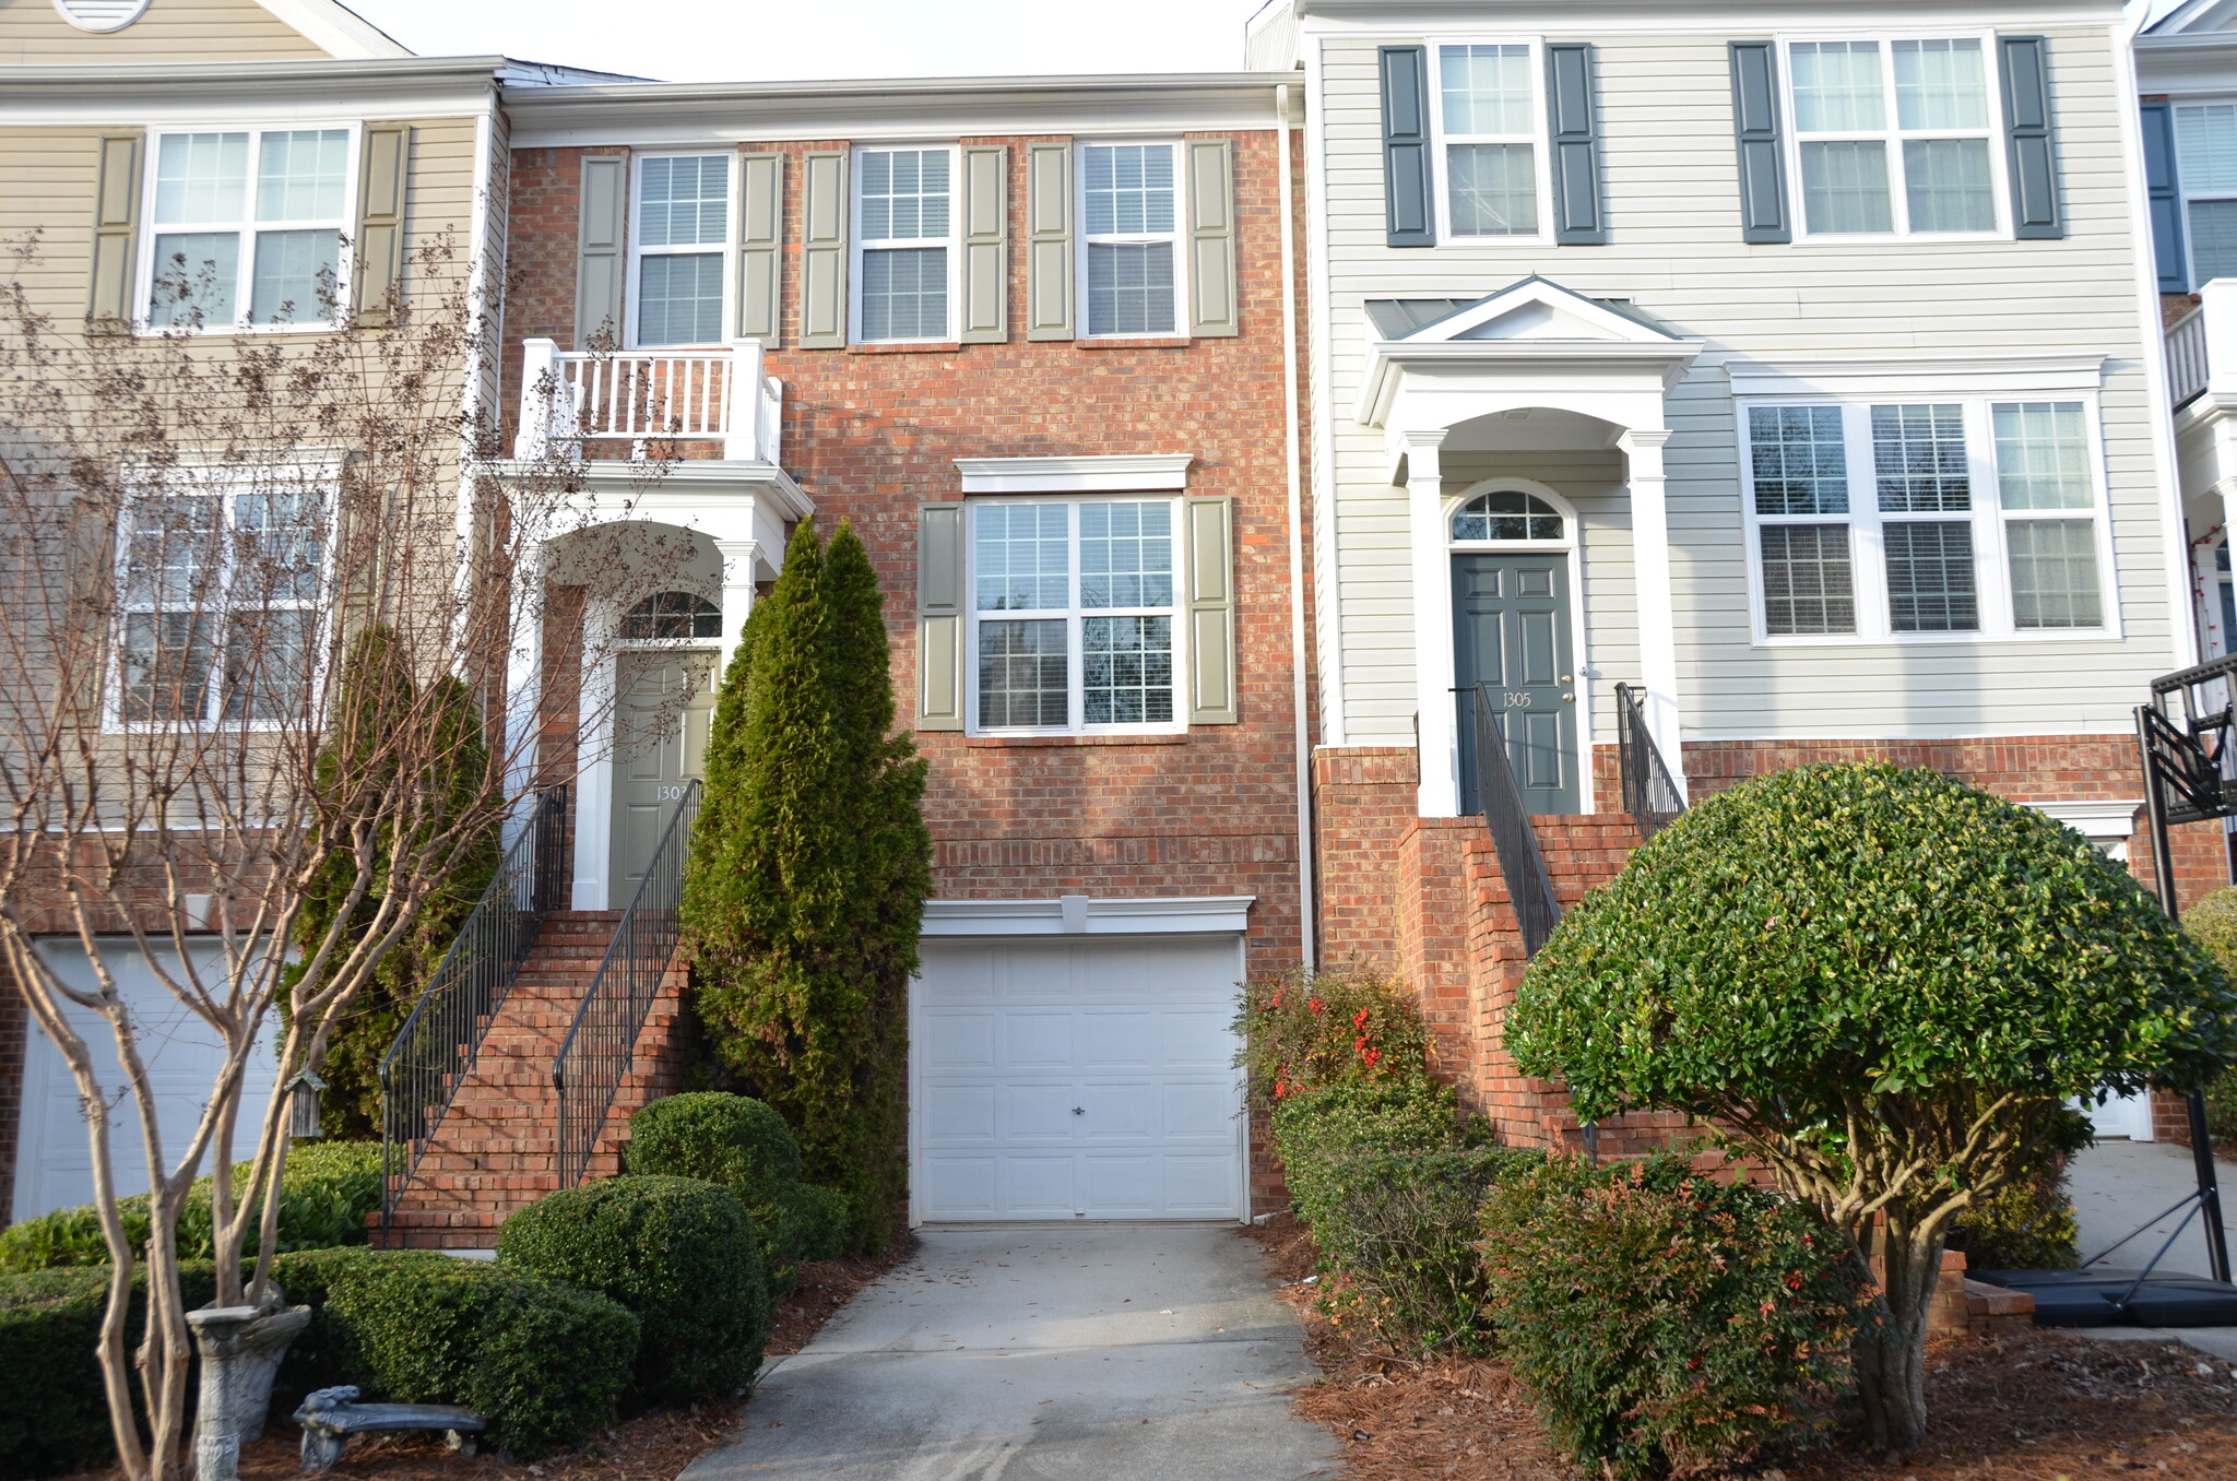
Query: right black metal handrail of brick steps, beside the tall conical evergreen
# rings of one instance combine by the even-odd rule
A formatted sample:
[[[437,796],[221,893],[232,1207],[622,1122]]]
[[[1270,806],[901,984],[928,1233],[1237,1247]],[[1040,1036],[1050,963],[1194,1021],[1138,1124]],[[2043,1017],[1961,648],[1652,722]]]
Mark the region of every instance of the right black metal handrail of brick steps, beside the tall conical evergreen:
[[[644,1016],[660,993],[662,978],[676,960],[682,940],[678,906],[685,895],[685,855],[691,850],[691,823],[698,819],[700,783],[689,783],[676,801],[660,846],[644,866],[644,881],[613,926],[613,942],[591,978],[591,991],[575,1009],[559,1058],[553,1060],[553,1089],[559,1092],[559,1186],[573,1188],[591,1168],[597,1134],[606,1130],[606,1112],[622,1094],[622,1081],[638,1051]]]

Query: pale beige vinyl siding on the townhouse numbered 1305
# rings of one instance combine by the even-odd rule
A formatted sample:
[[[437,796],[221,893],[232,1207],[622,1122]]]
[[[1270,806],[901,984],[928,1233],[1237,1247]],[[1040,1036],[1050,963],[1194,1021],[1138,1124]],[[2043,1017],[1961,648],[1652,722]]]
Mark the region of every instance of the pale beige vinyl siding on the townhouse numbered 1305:
[[[1769,34],[1769,27],[1754,34]],[[1351,421],[1367,362],[1362,302],[1481,295],[1530,273],[1593,298],[1633,300],[1673,333],[1707,342],[1667,403],[1671,566],[1689,738],[2125,727],[2143,678],[2172,667],[2172,635],[2154,425],[2139,365],[2159,353],[2159,327],[2139,320],[2139,295],[2130,286],[2136,264],[2118,132],[2130,103],[2121,96],[2107,34],[2078,27],[2049,34],[2067,239],[1792,246],[1740,242],[1725,54],[1738,31],[1559,29],[1548,36],[1597,47],[1608,246],[1387,248],[1376,45],[1423,38],[1344,36],[1309,38],[1306,45],[1306,56],[1318,56],[1324,69],[1315,128],[1324,130],[1329,157],[1320,181],[1331,309],[1324,353],[1333,389],[1333,577],[1342,611],[1347,738],[1356,745],[1409,743],[1416,705],[1405,497],[1387,485],[1382,432]],[[1799,195],[1790,195],[1790,210],[1799,206]],[[2101,398],[2123,638],[1754,647],[1736,423],[1722,362],[2009,353],[2107,358]],[[1483,468],[1479,454],[1467,456],[1470,470]],[[1506,472],[1521,470],[1519,461],[1506,465]],[[1557,477],[1544,481],[1568,492]],[[1608,501],[1611,528],[1624,506],[1622,497]],[[1586,595],[1597,609],[1617,602],[1617,582],[1595,573],[1593,523],[1588,519]],[[1624,559],[1629,564],[1629,541]],[[1629,573],[1622,586],[1620,613],[1611,606],[1606,620],[1597,611],[1591,615],[1602,691],[1637,678],[1635,644],[1624,649],[1608,635],[1631,622]],[[1595,727],[1606,725],[1604,694],[1599,702]]]

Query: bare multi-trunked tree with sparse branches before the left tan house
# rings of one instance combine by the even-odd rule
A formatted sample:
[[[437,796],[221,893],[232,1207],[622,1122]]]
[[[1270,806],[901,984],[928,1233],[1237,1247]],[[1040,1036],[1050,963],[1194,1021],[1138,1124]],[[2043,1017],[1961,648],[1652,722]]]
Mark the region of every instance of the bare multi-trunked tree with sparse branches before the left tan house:
[[[192,277],[166,264],[170,324],[128,333],[43,309],[36,239],[0,268],[0,960],[85,1107],[130,1481],[183,1465],[174,1233],[195,1177],[208,1163],[217,1304],[275,1311],[284,1087],[394,949],[423,955],[416,924],[515,812],[535,725],[508,673],[544,600],[523,573],[570,535],[582,488],[564,445],[494,461],[470,392],[497,293],[452,244],[358,318],[329,280],[298,313],[311,333],[206,327]],[[573,537],[606,530],[629,544]],[[579,566],[646,579],[660,557],[640,546]],[[183,1145],[125,958],[221,1045]],[[268,1110],[242,1123],[255,1078]],[[116,1136],[148,1175],[145,1248],[116,1213],[134,1192]],[[139,1262],[148,1315],[128,1333]]]

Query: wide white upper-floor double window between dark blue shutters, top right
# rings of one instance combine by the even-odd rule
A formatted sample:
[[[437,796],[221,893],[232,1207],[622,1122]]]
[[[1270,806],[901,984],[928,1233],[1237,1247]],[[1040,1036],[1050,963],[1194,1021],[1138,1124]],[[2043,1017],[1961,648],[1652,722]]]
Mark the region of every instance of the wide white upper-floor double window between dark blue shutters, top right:
[[[1986,36],[1787,43],[1807,235],[2002,228],[1989,47]]]

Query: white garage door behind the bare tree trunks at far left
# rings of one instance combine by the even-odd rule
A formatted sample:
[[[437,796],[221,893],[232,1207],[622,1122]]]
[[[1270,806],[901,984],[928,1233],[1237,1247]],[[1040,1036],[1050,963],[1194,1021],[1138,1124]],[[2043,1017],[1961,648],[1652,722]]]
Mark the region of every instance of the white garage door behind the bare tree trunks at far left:
[[[168,953],[170,949],[157,946],[157,951]],[[195,951],[204,973],[217,971],[215,942],[195,946]],[[94,989],[94,969],[78,942],[49,937],[38,944],[38,953],[63,982]],[[210,1101],[210,1085],[226,1060],[224,1043],[215,1029],[179,1007],[179,1000],[154,980],[130,937],[105,937],[101,955],[139,1027],[141,1056],[148,1060],[148,1078],[157,1087],[163,1157],[177,1161],[186,1143],[195,1139],[201,1107]],[[116,1063],[116,1036],[110,1034],[107,1020],[87,1009],[72,1007],[69,1020],[92,1049],[94,1063],[103,1067],[101,1083],[110,1092],[112,1107],[110,1154],[116,1168],[116,1190],[148,1192],[148,1154],[132,1092]],[[22,1056],[22,1132],[16,1141],[18,1219],[94,1201],[94,1152],[85,1136],[78,1081],[36,1022],[25,1025],[25,1034],[29,1043]],[[255,1145],[264,1107],[271,1103],[273,1067],[271,1031],[266,1029],[266,1043],[248,1054],[242,1114],[233,1132],[237,1157],[246,1157],[248,1148]],[[201,1161],[201,1170],[210,1170],[208,1157]]]

